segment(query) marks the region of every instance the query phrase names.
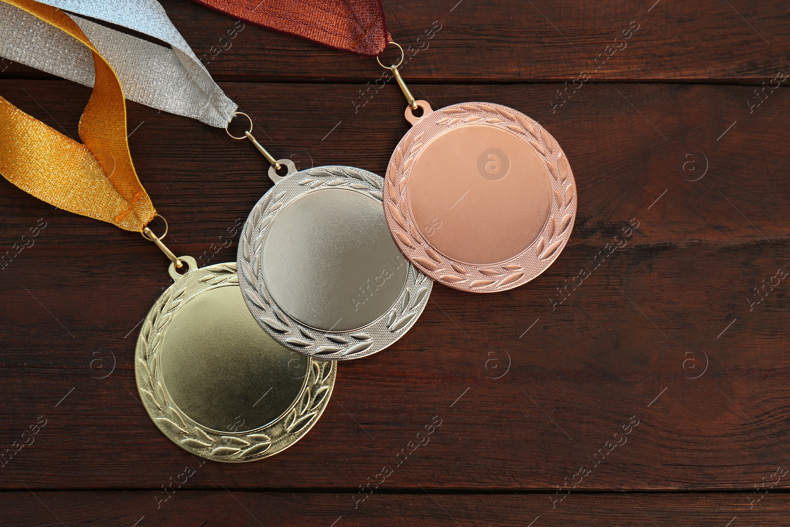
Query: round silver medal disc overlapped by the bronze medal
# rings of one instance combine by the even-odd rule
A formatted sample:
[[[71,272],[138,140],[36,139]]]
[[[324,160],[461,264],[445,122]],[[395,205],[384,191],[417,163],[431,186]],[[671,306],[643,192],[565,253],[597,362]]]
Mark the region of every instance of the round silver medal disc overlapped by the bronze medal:
[[[276,341],[318,359],[359,359],[417,321],[431,280],[397,249],[383,186],[361,168],[310,168],[254,206],[239,239],[239,285]]]

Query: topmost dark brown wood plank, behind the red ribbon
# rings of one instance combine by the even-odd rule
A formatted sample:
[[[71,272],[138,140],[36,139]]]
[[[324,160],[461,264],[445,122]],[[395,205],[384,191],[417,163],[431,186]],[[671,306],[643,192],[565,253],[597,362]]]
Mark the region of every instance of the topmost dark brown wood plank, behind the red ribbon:
[[[333,51],[187,0],[162,2],[218,81],[370,81],[372,58]],[[727,81],[787,71],[787,2],[384,2],[393,38],[412,46],[407,81]],[[435,22],[435,23],[434,23]],[[436,28],[441,28],[435,32]],[[629,29],[631,28],[631,29]],[[638,30],[631,34],[633,28]],[[615,38],[630,35],[628,40]],[[427,36],[432,36],[427,40]],[[419,38],[419,40],[418,40]],[[622,48],[614,51],[615,47]],[[600,58],[599,58],[600,57]],[[596,58],[598,59],[596,62]],[[2,70],[2,66],[0,66]],[[10,66],[9,75],[29,76]]]

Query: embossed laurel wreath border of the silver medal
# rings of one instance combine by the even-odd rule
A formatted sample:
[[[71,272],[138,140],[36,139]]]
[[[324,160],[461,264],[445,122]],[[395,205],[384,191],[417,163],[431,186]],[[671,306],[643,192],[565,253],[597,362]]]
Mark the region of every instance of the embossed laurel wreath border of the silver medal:
[[[383,200],[384,179],[360,168],[337,165],[299,171],[276,183],[254,206],[239,241],[239,283],[247,306],[261,327],[288,348],[329,360],[359,359],[380,352],[408,331],[423,312],[433,283],[408,263],[404,288],[389,311],[363,328],[329,332],[310,328],[280,309],[269,295],[261,271],[261,250],[268,227],[292,199],[327,187],[348,187]]]

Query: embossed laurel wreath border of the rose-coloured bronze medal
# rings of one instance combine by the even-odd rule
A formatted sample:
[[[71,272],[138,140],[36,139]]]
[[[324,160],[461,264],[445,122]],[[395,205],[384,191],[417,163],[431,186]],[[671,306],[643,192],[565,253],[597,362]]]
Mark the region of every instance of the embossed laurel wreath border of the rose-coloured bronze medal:
[[[485,115],[468,115],[480,112]],[[437,116],[442,117],[438,120]],[[468,116],[461,116],[468,115]],[[401,251],[408,259],[433,280],[452,288],[472,292],[497,292],[515,288],[532,280],[554,262],[573,230],[576,216],[576,183],[573,172],[559,144],[536,121],[512,108],[491,103],[464,103],[444,107],[423,116],[428,126],[463,126],[472,122],[487,122],[524,137],[546,164],[551,174],[552,202],[549,217],[543,230],[521,254],[501,265],[470,265],[457,262],[438,251],[416,229],[408,210],[406,188],[410,168],[425,142],[425,131],[419,124],[412,128],[397,145],[389,160],[385,178],[384,204],[389,229]],[[537,126],[536,126],[537,125]],[[419,127],[419,128],[418,128]],[[566,182],[570,183],[566,186]],[[571,207],[573,205],[573,207]],[[545,262],[538,273],[532,275],[525,264]]]

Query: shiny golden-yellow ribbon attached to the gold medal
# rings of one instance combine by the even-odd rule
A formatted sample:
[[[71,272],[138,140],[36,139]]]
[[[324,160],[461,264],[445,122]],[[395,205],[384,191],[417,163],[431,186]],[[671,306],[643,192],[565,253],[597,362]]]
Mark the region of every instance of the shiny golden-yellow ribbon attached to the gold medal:
[[[115,71],[66,13],[33,0],[0,0],[47,22],[93,53],[96,82],[80,119],[82,143],[0,97],[0,174],[72,213],[142,232],[156,215],[126,141],[126,102]]]

